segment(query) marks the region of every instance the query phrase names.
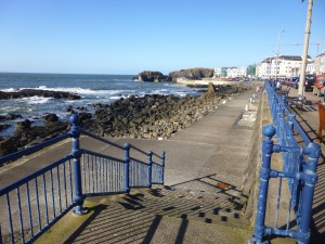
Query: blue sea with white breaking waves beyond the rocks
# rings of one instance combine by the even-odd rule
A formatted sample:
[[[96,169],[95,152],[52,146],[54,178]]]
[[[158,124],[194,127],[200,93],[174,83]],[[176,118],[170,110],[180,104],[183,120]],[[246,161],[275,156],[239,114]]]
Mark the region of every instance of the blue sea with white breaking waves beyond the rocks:
[[[1,124],[10,125],[0,131],[5,138],[14,133],[13,124],[17,120],[29,119],[32,125],[41,125],[42,116],[55,113],[60,119],[67,119],[68,107],[91,107],[92,104],[110,104],[120,98],[130,95],[162,94],[176,97],[198,95],[199,92],[186,86],[172,82],[140,82],[133,80],[133,75],[73,75],[73,74],[24,74],[0,73],[0,91],[18,91],[22,89],[38,89],[67,91],[77,93],[80,100],[64,100],[31,97],[23,99],[2,100],[0,115],[17,114],[22,118]]]

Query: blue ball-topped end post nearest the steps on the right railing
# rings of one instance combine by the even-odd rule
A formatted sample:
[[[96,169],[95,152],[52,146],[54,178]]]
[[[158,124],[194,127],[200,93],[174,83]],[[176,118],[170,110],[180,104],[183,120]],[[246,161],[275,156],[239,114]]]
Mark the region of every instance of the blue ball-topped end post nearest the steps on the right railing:
[[[266,201],[268,201],[268,188],[270,180],[270,167],[271,167],[271,156],[273,153],[273,141],[272,137],[275,134],[275,128],[271,125],[263,127],[262,130],[265,138],[262,142],[262,164],[260,169],[260,189],[258,195],[258,209],[257,218],[253,230],[253,239],[251,243],[263,243],[264,235],[264,222],[265,222],[265,211],[266,211]]]

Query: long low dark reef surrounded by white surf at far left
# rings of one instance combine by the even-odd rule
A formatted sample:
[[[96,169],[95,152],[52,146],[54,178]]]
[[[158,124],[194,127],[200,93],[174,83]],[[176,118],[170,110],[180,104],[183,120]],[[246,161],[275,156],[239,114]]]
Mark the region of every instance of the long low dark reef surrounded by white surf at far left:
[[[28,97],[43,97],[43,98],[54,98],[54,99],[69,99],[77,100],[80,95],[74,94],[65,91],[49,91],[49,90],[35,90],[35,89],[24,89],[18,91],[0,91],[0,100],[9,99],[22,99]]]

